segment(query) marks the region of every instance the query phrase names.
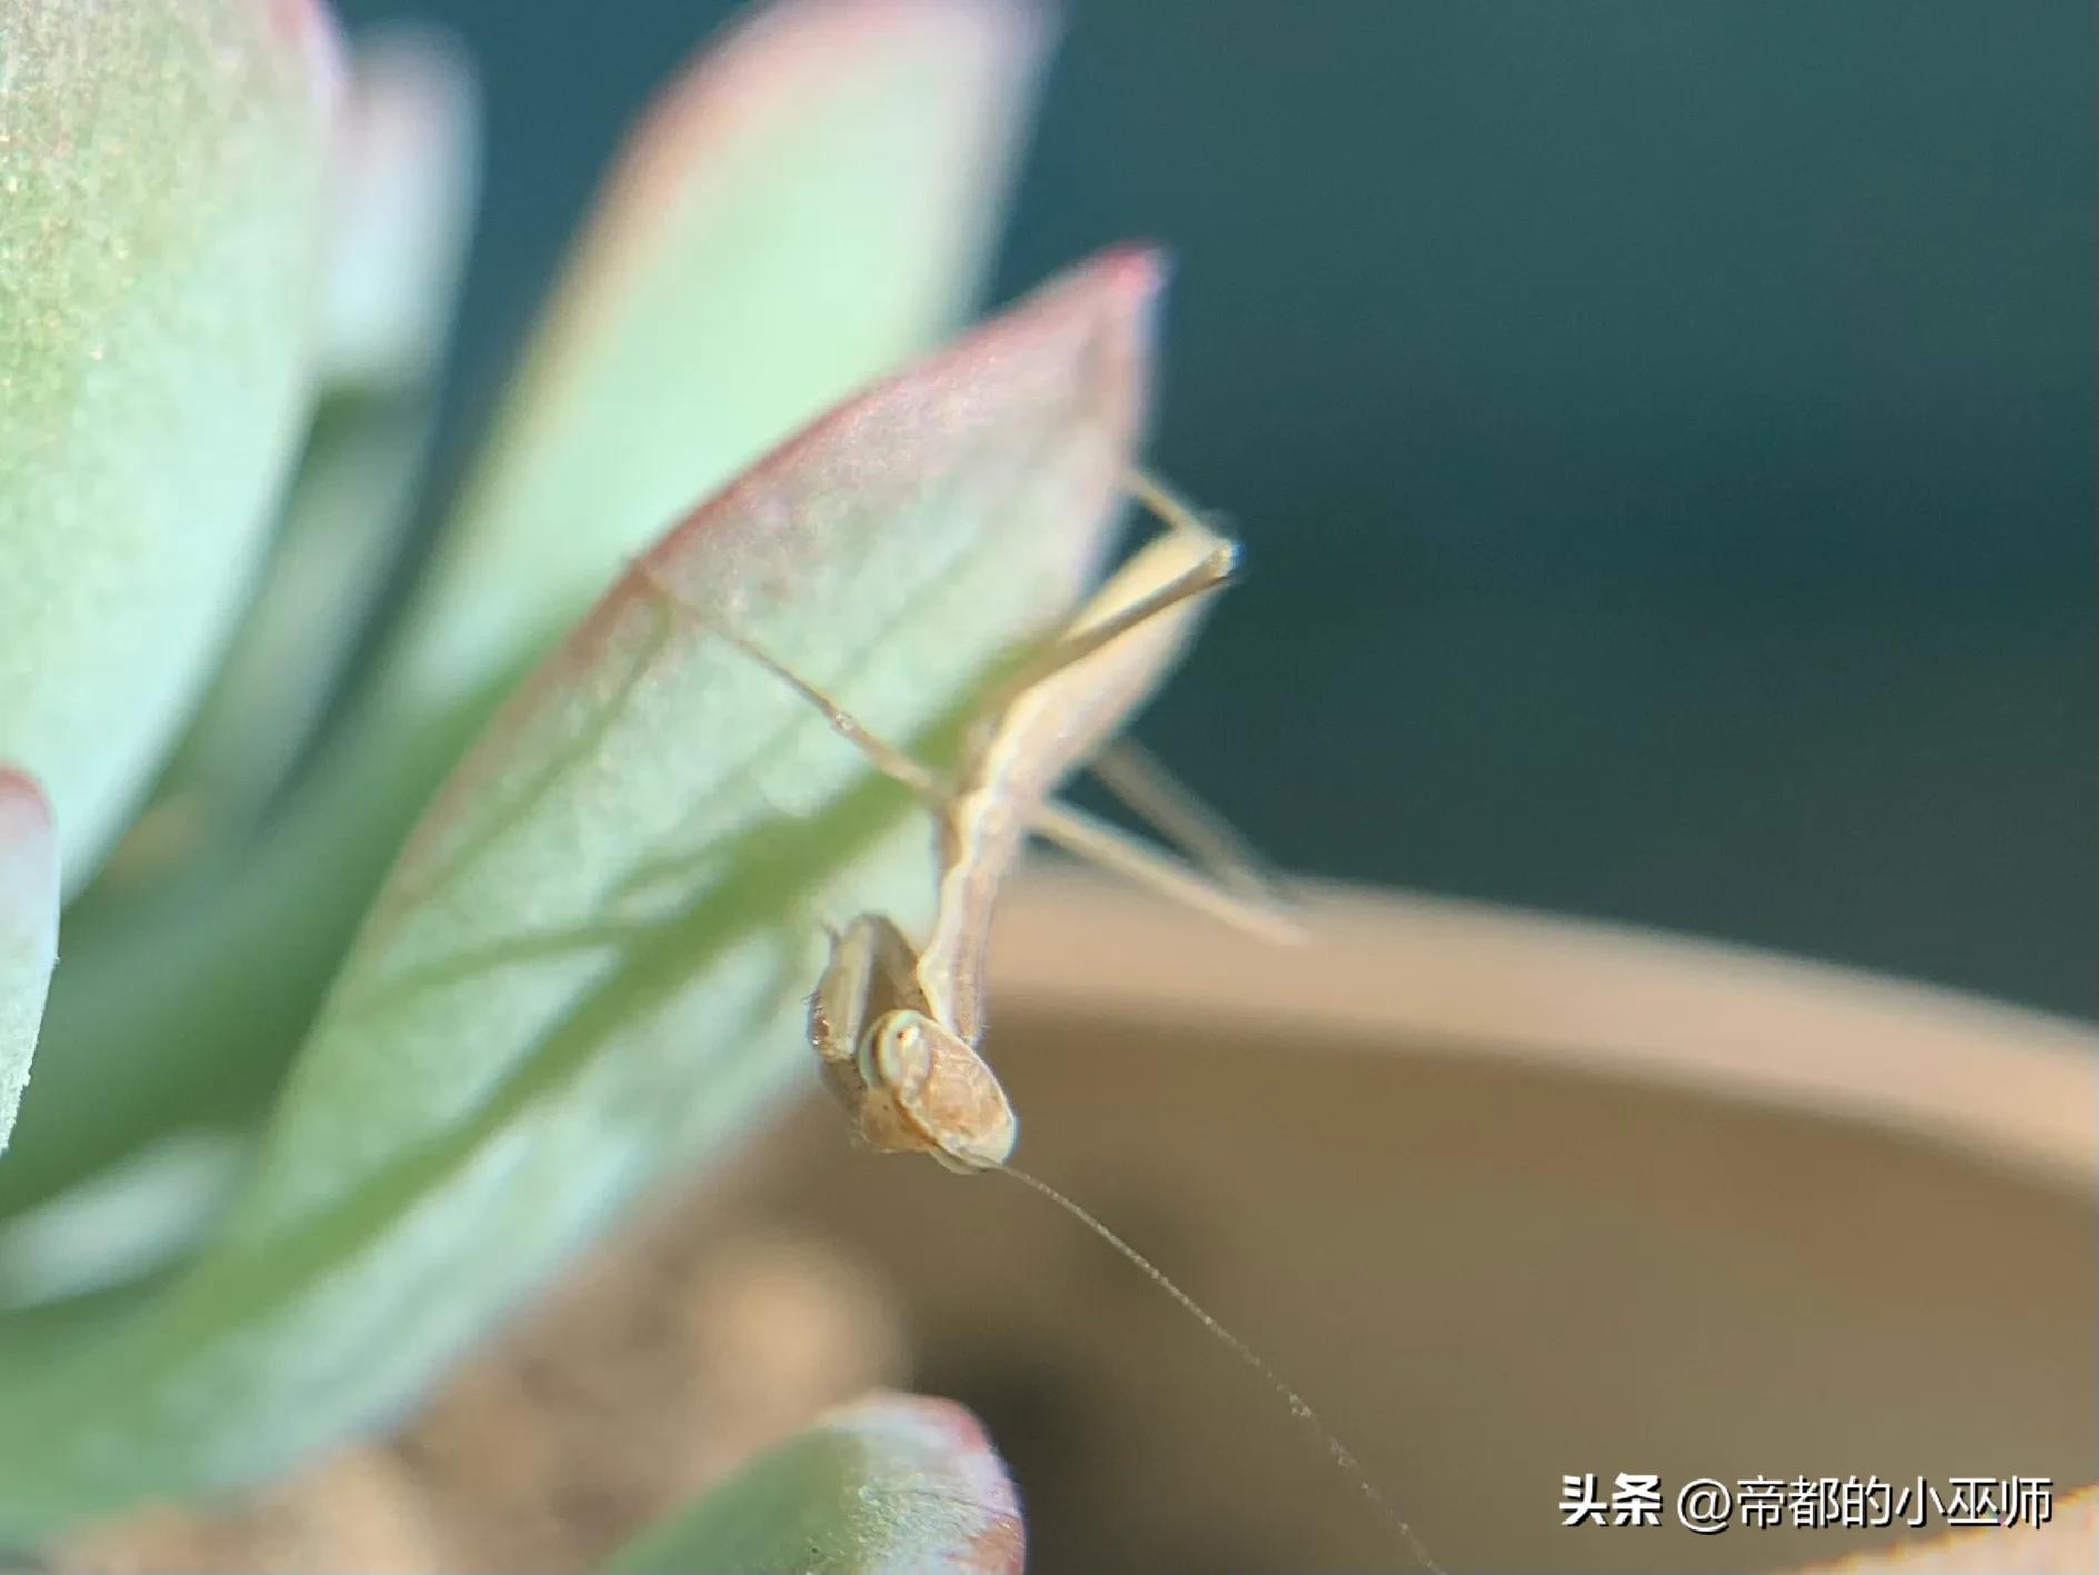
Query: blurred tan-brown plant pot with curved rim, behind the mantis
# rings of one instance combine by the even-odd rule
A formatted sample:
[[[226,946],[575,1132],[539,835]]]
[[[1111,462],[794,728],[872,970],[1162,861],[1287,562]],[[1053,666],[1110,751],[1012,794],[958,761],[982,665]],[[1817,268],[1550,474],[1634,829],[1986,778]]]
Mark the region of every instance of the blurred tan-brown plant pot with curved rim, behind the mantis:
[[[1751,951],[1324,890],[1280,949],[1022,882],[1020,1163],[1264,1352],[1453,1569],[1782,1569],[1891,1529],[1562,1527],[1566,1474],[2099,1476],[2099,1060],[2070,1023]],[[1003,1178],[800,1111],[749,1180],[900,1285],[1031,1569],[1402,1567],[1241,1367]],[[2099,1567],[2093,1516],[2055,1531]],[[1929,1531],[1942,1518],[1931,1516]],[[1990,1533],[1984,1562],[2042,1558]],[[2049,1539],[2038,1539],[2049,1541]],[[1967,1554],[1960,1554],[1967,1556]]]

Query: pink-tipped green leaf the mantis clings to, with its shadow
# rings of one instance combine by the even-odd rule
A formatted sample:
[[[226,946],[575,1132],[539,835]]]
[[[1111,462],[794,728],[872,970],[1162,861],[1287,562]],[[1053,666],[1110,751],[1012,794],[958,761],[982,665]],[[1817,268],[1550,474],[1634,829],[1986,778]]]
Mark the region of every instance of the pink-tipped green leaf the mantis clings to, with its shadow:
[[[218,1245],[107,1338],[0,1346],[0,1535],[378,1422],[674,1161],[810,1073],[823,920],[930,827],[728,622],[949,737],[1089,578],[1154,258],[1117,252],[772,454],[504,708],[386,882]]]

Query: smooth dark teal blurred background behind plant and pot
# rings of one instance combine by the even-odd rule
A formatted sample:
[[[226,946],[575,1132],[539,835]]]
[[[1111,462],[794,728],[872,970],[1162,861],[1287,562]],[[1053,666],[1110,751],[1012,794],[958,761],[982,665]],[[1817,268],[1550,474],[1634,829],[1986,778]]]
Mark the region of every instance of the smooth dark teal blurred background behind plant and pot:
[[[460,410],[720,4],[418,0]],[[1142,733],[1280,861],[2093,1012],[2086,0],[1096,0],[997,294],[1180,275],[1249,578]],[[464,422],[462,422],[464,430]]]

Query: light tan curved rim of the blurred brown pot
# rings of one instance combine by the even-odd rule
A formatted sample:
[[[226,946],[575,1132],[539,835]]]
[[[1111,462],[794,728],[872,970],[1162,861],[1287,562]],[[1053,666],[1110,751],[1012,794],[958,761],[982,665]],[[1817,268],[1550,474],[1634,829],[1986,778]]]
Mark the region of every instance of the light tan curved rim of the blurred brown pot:
[[[995,1010],[1234,1031],[1675,1086],[1921,1136],[2091,1195],[2099,1029],[1937,985],[1627,924],[1306,882],[1308,945],[1073,867],[999,911]],[[1157,962],[1154,962],[1157,960]]]

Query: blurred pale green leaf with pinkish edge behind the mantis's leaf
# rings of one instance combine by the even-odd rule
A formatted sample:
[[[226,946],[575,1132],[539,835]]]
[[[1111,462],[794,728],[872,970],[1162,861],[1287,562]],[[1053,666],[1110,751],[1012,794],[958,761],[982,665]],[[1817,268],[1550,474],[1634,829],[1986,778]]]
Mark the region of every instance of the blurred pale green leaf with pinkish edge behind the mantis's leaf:
[[[754,449],[938,340],[993,231],[1033,17],[1016,0],[793,0],[672,88],[556,292],[462,508],[468,544],[422,598],[397,674],[430,682],[332,729],[246,867],[67,937],[46,1018],[59,1071],[23,1113],[0,1208],[252,1115],[386,859],[514,676]],[[451,620],[464,643],[437,685]]]

